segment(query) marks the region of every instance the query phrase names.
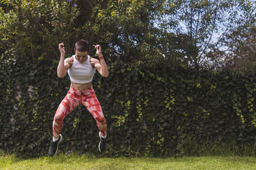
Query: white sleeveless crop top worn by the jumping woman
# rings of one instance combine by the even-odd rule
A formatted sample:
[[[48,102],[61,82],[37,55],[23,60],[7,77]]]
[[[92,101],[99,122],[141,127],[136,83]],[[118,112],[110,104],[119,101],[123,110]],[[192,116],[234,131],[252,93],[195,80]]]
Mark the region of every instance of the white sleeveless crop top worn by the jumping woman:
[[[89,83],[92,81],[95,68],[90,64],[90,56],[82,64],[76,59],[76,55],[72,56],[74,62],[72,66],[68,69],[68,76],[74,83]]]

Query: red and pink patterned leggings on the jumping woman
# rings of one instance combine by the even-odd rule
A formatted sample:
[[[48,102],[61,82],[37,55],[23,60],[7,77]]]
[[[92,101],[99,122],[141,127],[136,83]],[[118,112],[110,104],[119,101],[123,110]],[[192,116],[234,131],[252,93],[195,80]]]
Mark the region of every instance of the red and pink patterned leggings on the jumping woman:
[[[101,135],[106,136],[107,122],[93,88],[90,87],[81,91],[70,86],[67,96],[61,101],[54,116],[54,121],[52,123],[52,133],[54,138],[60,136],[64,118],[80,104],[83,104],[86,109],[92,113]]]

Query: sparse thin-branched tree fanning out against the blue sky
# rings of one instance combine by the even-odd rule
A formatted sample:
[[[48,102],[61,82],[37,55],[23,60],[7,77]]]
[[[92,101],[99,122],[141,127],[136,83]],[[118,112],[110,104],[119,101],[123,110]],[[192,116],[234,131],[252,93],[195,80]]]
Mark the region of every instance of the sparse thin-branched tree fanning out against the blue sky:
[[[207,53],[213,45],[213,36],[220,31],[221,23],[225,22],[225,15],[230,11],[232,1],[168,1],[167,6],[177,10],[177,15],[170,16],[177,19],[178,34],[186,34],[188,45],[197,49],[186,50],[184,61],[193,67],[200,67],[207,61]]]

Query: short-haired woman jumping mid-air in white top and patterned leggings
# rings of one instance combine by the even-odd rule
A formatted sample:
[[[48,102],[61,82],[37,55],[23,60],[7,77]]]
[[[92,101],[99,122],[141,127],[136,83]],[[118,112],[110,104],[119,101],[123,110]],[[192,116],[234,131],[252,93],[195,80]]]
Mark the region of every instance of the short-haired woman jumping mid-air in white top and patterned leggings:
[[[93,46],[97,50],[96,53],[100,61],[88,55],[89,45],[83,39],[76,41],[74,49],[76,54],[67,59],[65,59],[64,43],[59,45],[61,57],[57,69],[58,77],[63,78],[68,73],[71,85],[67,96],[61,101],[54,116],[52,123],[53,138],[49,148],[50,156],[54,156],[58,152],[58,145],[62,140],[60,132],[63,128],[64,118],[79,104],[83,104],[92,113],[93,118],[95,118],[100,131],[99,151],[104,152],[106,150],[107,122],[92,88],[92,80],[95,69],[103,77],[108,77],[109,73],[100,45]]]

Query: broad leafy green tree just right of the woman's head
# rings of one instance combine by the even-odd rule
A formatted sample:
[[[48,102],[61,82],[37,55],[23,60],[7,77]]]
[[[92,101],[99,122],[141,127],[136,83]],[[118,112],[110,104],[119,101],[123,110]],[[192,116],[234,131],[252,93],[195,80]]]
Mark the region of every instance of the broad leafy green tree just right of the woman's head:
[[[104,1],[93,8],[83,36],[103,45],[113,60],[180,65],[180,56],[193,45],[188,45],[188,36],[167,32],[164,23],[159,22],[166,13],[165,5],[165,1],[156,0]],[[168,25],[177,27],[177,22],[169,20]]]

